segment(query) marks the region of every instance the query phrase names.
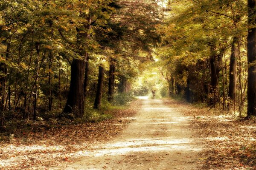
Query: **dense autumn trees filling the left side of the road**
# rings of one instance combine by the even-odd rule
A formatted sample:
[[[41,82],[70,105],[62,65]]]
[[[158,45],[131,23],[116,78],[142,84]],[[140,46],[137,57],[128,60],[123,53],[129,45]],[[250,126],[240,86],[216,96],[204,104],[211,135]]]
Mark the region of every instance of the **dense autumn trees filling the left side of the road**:
[[[87,102],[125,92],[160,40],[158,10],[150,0],[1,0],[1,126],[83,117]]]

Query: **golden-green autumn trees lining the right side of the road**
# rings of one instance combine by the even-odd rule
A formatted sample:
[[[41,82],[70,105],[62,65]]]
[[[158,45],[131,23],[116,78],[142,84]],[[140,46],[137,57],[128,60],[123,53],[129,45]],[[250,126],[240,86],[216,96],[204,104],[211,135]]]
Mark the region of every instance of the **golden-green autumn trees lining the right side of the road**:
[[[158,55],[170,95],[256,115],[256,1],[172,0],[168,8]]]

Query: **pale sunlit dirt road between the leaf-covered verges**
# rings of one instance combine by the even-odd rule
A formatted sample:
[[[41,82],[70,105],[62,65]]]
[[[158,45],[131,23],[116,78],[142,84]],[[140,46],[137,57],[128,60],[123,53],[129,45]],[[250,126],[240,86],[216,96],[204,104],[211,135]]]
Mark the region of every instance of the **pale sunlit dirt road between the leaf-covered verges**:
[[[67,170],[198,170],[202,150],[189,118],[161,99],[144,99],[133,121],[113,141],[95,146]]]

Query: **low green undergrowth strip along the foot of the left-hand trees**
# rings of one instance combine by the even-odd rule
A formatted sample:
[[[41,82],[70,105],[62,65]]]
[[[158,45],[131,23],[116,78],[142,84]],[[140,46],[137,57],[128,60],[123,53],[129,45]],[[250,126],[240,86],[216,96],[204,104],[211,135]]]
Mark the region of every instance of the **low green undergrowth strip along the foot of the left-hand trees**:
[[[2,129],[0,129],[0,142],[10,140],[12,136],[22,136],[23,133],[41,132],[52,128],[61,128],[66,125],[77,125],[86,122],[96,123],[102,122],[106,119],[113,119],[114,111],[123,110],[127,104],[134,100],[134,97],[129,93],[116,94],[112,102],[107,99],[102,99],[102,106],[100,109],[93,109],[93,98],[87,98],[84,106],[84,116],[82,118],[75,118],[72,113],[67,117],[58,117],[61,111],[42,112],[38,113],[36,121],[29,119],[23,120],[19,117],[15,119],[7,119]],[[9,113],[11,117],[12,113]]]

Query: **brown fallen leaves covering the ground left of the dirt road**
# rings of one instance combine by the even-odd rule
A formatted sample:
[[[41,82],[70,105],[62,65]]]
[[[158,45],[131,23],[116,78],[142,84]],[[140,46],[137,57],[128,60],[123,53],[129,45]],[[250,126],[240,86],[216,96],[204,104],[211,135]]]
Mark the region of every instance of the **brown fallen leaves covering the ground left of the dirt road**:
[[[38,170],[63,166],[78,155],[91,150],[90,146],[109,141],[119,134],[140,109],[141,101],[124,110],[111,111],[114,119],[99,123],[63,125],[61,127],[13,134],[9,142],[0,143],[0,170]],[[122,120],[120,122],[120,120]]]

